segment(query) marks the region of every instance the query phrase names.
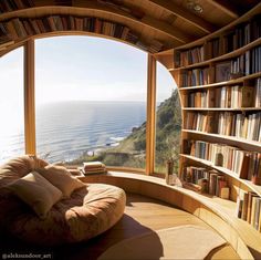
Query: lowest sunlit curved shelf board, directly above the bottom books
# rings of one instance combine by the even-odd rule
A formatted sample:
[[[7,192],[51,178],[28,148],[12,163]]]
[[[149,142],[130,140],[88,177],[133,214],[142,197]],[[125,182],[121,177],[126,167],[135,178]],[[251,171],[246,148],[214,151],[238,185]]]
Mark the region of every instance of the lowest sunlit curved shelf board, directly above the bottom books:
[[[191,155],[186,155],[186,154],[180,154],[181,157],[200,163],[207,167],[210,167],[212,169],[216,169],[225,175],[228,175],[237,180],[239,180],[240,183],[244,184],[246,186],[248,186],[251,190],[253,190],[254,193],[257,193],[259,196],[261,196],[261,186],[259,185],[254,185],[252,184],[250,180],[247,179],[241,179],[239,178],[239,176],[237,175],[237,173],[229,170],[227,168],[223,167],[219,167],[219,166],[215,166],[211,162],[206,160],[206,159],[201,159],[201,158],[197,158],[195,156]]]

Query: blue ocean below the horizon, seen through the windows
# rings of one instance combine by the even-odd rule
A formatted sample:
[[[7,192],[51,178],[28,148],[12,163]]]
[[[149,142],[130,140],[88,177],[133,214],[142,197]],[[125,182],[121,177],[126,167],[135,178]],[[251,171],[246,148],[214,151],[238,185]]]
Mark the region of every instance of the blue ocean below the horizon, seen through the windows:
[[[36,153],[48,162],[72,160],[116,146],[146,121],[145,102],[71,101],[36,107]],[[6,153],[24,154],[23,134],[4,137]]]

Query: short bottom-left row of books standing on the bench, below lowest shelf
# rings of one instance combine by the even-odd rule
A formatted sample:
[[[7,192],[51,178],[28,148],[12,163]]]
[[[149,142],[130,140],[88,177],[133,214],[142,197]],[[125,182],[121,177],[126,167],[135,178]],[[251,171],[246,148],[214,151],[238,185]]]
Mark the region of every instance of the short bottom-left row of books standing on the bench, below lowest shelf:
[[[228,187],[226,177],[217,170],[209,170],[195,166],[185,166],[181,173],[182,180],[185,181],[184,187],[190,188],[192,186],[196,191],[198,188],[198,191],[202,194],[209,194],[223,199],[229,199],[230,188]]]

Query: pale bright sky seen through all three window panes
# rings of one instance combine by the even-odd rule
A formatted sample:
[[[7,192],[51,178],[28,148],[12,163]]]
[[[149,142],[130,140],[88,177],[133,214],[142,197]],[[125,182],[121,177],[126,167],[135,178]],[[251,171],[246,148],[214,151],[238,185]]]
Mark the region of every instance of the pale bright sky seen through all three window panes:
[[[0,111],[23,113],[23,49],[0,59]],[[176,87],[157,65],[157,102]],[[143,101],[147,97],[147,53],[94,37],[55,37],[35,41],[35,103],[58,101]],[[18,110],[18,107],[21,107]],[[22,112],[19,112],[22,111]],[[7,119],[7,113],[1,118]],[[10,119],[9,119],[10,121]],[[12,123],[14,124],[14,123]]]

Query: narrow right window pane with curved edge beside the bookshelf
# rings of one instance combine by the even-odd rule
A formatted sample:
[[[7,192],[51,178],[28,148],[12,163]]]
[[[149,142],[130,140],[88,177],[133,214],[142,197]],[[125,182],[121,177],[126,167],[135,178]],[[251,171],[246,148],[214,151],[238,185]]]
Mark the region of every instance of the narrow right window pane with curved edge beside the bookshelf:
[[[155,171],[166,174],[167,160],[178,170],[181,111],[177,85],[170,73],[157,63],[157,112]]]

